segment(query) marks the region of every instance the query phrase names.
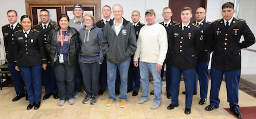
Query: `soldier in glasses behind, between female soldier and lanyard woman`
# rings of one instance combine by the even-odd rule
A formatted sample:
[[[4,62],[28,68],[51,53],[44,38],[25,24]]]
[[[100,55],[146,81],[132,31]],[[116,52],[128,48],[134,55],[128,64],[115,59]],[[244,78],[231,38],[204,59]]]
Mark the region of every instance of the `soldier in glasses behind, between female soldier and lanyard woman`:
[[[40,14],[39,17],[41,19],[41,22],[39,22],[39,24],[34,25],[34,29],[36,29],[37,31],[40,31],[40,33],[43,34],[43,41],[44,44],[46,43],[46,38],[50,32],[50,30],[52,30],[52,28],[56,27],[55,24],[50,23],[50,14],[49,11],[47,9],[41,9],[40,10]],[[50,63],[49,59],[48,59],[48,63]],[[55,74],[53,72],[52,66],[48,65],[46,67],[46,70],[43,70],[43,74],[42,74],[42,81],[43,81],[43,85],[45,85],[45,95],[43,96],[43,100],[48,99],[50,97],[50,95],[53,95],[53,98],[58,99],[58,88],[56,85],[56,78],[55,78]]]

